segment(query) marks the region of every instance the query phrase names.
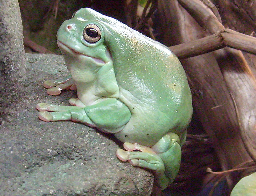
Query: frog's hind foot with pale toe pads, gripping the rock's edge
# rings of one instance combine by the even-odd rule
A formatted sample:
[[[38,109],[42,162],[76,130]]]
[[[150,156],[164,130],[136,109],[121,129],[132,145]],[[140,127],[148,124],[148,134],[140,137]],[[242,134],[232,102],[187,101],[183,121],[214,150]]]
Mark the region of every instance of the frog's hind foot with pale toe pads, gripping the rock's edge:
[[[169,185],[169,179],[164,174],[165,166],[163,160],[151,148],[139,144],[125,142],[125,150],[117,149],[116,155],[121,161],[129,161],[130,164],[138,167],[148,168],[154,171],[157,184],[161,189]],[[133,150],[139,150],[134,152]],[[133,151],[133,152],[132,152]]]

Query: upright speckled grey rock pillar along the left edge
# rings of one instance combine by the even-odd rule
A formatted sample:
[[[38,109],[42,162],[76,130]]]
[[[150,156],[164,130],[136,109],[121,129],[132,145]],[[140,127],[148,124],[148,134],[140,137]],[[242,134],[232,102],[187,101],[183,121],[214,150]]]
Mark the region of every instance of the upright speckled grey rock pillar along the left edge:
[[[18,0],[0,0],[0,124],[8,104],[23,93],[25,58]],[[8,97],[8,102],[5,101]]]

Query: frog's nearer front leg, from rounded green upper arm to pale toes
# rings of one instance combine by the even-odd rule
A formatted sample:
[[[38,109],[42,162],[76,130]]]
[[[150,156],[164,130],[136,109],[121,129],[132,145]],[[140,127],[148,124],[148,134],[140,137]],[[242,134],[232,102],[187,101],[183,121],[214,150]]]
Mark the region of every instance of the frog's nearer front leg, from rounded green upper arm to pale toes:
[[[78,100],[72,99],[71,102],[77,103]],[[38,117],[43,121],[71,120],[100,128],[108,133],[120,131],[131,118],[128,107],[114,98],[105,98],[85,107],[39,103],[36,108],[40,111]]]

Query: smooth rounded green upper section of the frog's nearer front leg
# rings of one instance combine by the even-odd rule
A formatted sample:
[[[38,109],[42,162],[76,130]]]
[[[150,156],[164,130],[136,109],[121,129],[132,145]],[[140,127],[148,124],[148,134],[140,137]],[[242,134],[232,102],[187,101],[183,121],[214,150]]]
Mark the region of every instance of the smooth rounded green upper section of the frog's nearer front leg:
[[[85,107],[87,116],[100,128],[115,129],[124,126],[131,118],[129,108],[121,101],[108,98]]]

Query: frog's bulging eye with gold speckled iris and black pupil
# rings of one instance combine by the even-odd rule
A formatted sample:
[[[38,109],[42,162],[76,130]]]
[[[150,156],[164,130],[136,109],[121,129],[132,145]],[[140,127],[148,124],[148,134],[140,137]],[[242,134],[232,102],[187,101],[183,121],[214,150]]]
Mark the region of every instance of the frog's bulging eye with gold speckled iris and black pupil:
[[[95,24],[87,25],[84,28],[83,37],[89,43],[96,43],[101,37],[100,28]]]

